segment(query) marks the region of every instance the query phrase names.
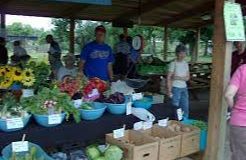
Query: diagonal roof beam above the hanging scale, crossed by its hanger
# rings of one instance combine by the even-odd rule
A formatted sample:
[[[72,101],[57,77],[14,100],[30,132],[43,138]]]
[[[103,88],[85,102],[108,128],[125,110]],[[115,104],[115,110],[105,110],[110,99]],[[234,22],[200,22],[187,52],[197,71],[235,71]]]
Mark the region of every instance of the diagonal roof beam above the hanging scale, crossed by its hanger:
[[[150,12],[152,10],[155,10],[156,8],[163,7],[164,5],[169,4],[170,2],[174,2],[176,0],[149,0],[147,3],[142,4],[141,6],[141,15],[147,12]],[[141,16],[140,15],[140,16]],[[119,15],[115,19],[129,19],[133,17],[139,16],[138,10],[131,10],[129,12],[123,13]]]

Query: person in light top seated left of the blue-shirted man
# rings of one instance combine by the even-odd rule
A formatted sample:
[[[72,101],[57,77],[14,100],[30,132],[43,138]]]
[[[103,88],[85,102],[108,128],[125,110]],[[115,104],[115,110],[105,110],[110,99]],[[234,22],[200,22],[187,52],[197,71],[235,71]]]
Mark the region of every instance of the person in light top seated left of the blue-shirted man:
[[[62,81],[66,76],[76,77],[78,73],[78,69],[74,66],[75,57],[73,55],[67,55],[63,58],[65,66],[60,67],[57,72],[57,79],[59,81]]]

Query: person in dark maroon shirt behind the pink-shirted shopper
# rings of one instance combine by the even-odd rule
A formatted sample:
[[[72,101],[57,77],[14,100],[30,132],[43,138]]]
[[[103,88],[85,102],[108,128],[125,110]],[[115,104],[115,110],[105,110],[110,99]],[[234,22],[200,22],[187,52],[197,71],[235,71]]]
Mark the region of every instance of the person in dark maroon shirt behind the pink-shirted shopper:
[[[231,62],[231,76],[242,64],[246,64],[246,49],[243,42],[236,41],[234,42],[236,51],[232,53],[232,62]]]

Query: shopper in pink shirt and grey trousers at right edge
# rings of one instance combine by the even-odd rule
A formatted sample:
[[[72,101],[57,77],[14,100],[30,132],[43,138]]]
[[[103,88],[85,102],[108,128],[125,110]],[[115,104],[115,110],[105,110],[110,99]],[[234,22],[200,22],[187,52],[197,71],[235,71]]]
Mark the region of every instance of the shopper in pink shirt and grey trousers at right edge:
[[[230,108],[230,143],[232,160],[246,158],[246,65],[239,67],[225,93]]]

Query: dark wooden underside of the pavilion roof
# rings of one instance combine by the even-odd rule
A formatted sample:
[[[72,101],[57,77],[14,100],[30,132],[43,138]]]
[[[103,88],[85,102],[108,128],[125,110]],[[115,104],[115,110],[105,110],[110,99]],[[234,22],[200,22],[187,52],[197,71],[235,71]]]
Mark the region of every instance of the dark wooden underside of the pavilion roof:
[[[246,0],[239,1],[246,3]],[[201,17],[213,17],[213,10],[214,0],[112,0],[112,6],[52,0],[0,1],[0,12],[6,14],[108,22],[131,20],[135,24],[141,21],[141,25],[181,28],[212,23],[212,18],[203,20]]]

